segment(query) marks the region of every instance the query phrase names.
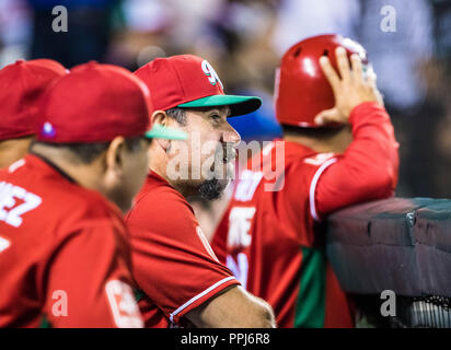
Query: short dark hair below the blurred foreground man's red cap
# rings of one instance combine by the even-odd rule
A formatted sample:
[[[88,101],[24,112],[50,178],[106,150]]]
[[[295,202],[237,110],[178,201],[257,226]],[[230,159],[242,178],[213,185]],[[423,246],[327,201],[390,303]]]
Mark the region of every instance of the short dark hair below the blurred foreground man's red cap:
[[[125,144],[130,152],[139,152],[141,150],[142,137],[134,137],[125,139]],[[66,149],[71,152],[77,160],[82,164],[92,163],[99,155],[105,152],[111,142],[93,142],[93,143],[49,143],[33,140],[30,150],[33,150],[35,144]]]

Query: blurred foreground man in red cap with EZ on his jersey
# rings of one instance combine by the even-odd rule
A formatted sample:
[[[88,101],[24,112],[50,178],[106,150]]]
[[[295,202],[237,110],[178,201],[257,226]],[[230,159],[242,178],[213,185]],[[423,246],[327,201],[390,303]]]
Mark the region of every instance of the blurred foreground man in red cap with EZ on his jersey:
[[[0,327],[141,327],[122,212],[148,172],[149,91],[91,62],[46,91],[30,154],[0,171]],[[120,210],[119,210],[120,209]]]

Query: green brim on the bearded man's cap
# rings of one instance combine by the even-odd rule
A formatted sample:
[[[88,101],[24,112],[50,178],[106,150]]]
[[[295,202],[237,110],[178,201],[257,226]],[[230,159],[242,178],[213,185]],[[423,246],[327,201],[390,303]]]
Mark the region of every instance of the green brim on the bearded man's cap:
[[[257,110],[262,98],[256,96],[212,95],[178,105],[183,108],[229,106],[230,117],[241,116]]]

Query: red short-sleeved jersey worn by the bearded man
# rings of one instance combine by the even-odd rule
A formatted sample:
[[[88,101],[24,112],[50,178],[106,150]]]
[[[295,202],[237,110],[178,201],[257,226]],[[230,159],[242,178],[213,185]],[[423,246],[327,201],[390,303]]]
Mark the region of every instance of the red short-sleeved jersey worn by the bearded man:
[[[151,172],[126,217],[146,327],[184,326],[186,313],[239,284],[218,261],[186,199]]]

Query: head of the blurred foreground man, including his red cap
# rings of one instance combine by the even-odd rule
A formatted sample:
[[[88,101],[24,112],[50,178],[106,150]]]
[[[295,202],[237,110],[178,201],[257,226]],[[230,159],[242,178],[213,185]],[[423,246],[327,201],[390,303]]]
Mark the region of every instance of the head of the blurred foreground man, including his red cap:
[[[127,70],[78,66],[43,96],[31,152],[126,211],[149,171],[148,104]]]

